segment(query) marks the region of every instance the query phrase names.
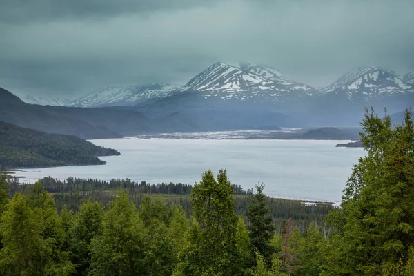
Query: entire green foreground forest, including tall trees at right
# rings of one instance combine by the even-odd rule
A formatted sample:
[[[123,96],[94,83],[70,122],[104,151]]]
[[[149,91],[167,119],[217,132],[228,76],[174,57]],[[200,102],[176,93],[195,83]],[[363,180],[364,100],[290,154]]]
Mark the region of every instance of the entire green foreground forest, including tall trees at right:
[[[44,179],[14,187],[10,199],[3,172],[0,274],[414,275],[411,112],[393,127],[388,115],[381,119],[367,110],[362,127],[366,157],[353,168],[341,208],[330,210],[324,225],[309,223],[304,233],[294,219],[277,230],[264,186],[258,184],[253,195],[235,194],[226,170],[217,176],[208,170],[190,192],[170,194],[189,197],[189,216],[148,191],[137,207],[134,187],[122,181],[112,182],[121,190],[109,189],[110,204],[95,200],[92,192],[108,193],[95,184],[91,193],[81,185],[69,192],[79,179],[57,193],[43,188]],[[57,189],[53,181],[44,186]],[[56,197],[71,193],[88,198],[78,201],[76,210],[58,211]],[[236,213],[239,197],[249,197],[243,218]]]

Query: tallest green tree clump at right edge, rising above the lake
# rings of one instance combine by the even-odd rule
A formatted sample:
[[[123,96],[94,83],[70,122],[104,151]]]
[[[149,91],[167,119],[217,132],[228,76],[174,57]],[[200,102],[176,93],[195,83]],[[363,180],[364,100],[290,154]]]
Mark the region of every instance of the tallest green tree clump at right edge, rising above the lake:
[[[366,110],[361,141],[367,152],[348,180],[333,239],[340,252],[328,258],[326,274],[382,275],[408,262],[414,242],[414,127],[411,112],[392,127]],[[343,259],[344,262],[338,262]]]

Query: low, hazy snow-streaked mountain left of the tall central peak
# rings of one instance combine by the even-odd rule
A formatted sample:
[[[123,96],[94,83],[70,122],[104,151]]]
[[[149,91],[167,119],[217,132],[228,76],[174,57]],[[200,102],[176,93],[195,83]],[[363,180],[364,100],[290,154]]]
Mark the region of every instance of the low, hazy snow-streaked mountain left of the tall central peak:
[[[98,106],[133,106],[155,97],[165,97],[179,86],[167,83],[154,83],[148,86],[128,86],[119,88],[107,86],[76,99],[70,106],[98,107]]]

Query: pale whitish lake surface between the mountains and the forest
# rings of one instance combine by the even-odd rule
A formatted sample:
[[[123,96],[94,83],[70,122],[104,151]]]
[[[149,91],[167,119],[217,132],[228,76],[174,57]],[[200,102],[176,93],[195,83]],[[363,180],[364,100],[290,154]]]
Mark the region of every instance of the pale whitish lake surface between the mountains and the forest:
[[[205,170],[226,168],[244,190],[263,182],[270,197],[339,202],[362,148],[336,148],[348,141],[253,139],[100,139],[120,156],[101,157],[103,166],[26,169],[26,181],[42,177],[114,179],[194,184]],[[24,181],[24,180],[23,180]]]

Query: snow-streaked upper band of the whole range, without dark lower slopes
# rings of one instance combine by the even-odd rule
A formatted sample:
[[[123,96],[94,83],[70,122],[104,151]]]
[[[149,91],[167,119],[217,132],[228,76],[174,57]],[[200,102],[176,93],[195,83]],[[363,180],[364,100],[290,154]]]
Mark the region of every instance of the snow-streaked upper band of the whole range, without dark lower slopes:
[[[192,95],[188,95],[191,93]],[[197,93],[197,95],[194,95]],[[353,109],[375,104],[384,107],[384,103],[395,112],[404,106],[402,101],[411,101],[414,93],[414,73],[406,74],[402,79],[394,72],[382,68],[363,66],[346,73],[329,86],[315,89],[304,83],[288,79],[275,68],[266,65],[242,62],[239,66],[225,63],[213,63],[184,86],[167,83],[153,83],[148,86],[128,86],[126,88],[104,87],[76,99],[23,98],[26,103],[50,106],[105,107],[139,106],[148,110],[157,106],[168,106],[168,101],[178,104],[173,112],[182,112],[184,106],[197,107],[206,101],[227,106],[228,101],[244,101],[254,105],[273,105],[278,111],[308,112],[324,109],[324,106],[336,106]],[[178,99],[186,98],[181,102]],[[197,98],[188,102],[189,98]],[[178,103],[176,101],[179,101]],[[220,102],[221,101],[221,102]],[[227,101],[226,104],[223,101]],[[336,101],[336,103],[335,103]],[[159,102],[159,103],[157,103]],[[233,103],[232,103],[233,104]],[[411,106],[411,105],[408,105]],[[164,112],[165,113],[165,112]],[[323,113],[323,112],[322,112]]]

